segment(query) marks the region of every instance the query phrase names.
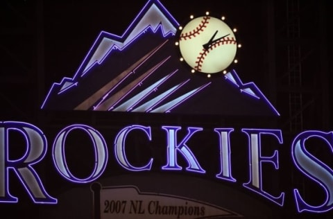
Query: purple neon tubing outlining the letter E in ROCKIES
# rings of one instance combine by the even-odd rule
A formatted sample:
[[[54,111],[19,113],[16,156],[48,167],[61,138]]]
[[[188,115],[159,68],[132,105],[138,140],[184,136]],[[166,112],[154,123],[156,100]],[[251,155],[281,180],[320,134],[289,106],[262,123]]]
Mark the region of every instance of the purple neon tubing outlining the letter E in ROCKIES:
[[[273,135],[273,137],[276,137],[278,140],[279,140],[279,143],[282,144],[283,143],[283,139],[282,139],[282,130],[262,130],[262,129],[254,129],[254,128],[242,128],[241,129],[241,132],[244,132],[247,137],[248,137],[248,149],[249,149],[249,153],[248,153],[248,161],[249,161],[249,166],[252,166],[252,159],[251,159],[251,155],[252,153],[250,152],[252,147],[251,147],[251,137],[250,137],[250,134],[246,131],[249,131],[250,133],[252,133],[252,131],[257,131],[256,134],[258,134],[259,132],[259,136],[258,136],[258,155],[259,155],[259,176],[260,176],[260,180],[259,180],[259,188],[260,191],[262,191],[262,193],[259,193],[257,190],[253,189],[254,186],[251,186],[251,182],[252,182],[252,176],[249,175],[250,179],[248,180],[247,183],[244,183],[243,186],[246,188],[246,189],[250,189],[250,191],[253,191],[259,195],[262,195],[262,197],[268,199],[268,200],[271,200],[272,202],[274,202],[275,204],[278,204],[280,205],[281,207],[283,206],[284,204],[284,192],[281,192],[280,193],[280,196],[278,197],[275,197],[273,195],[271,195],[270,193],[266,192],[263,190],[262,188],[262,162],[263,161],[266,161],[266,162],[269,162],[271,164],[273,164],[275,170],[278,170],[279,169],[279,159],[278,159],[278,150],[274,150],[274,153],[271,157],[262,157],[262,144],[261,144],[261,135],[262,134],[270,134],[270,135]],[[278,132],[278,133],[275,133],[275,132]],[[279,134],[279,135],[278,135]],[[277,164],[275,164],[273,161],[271,161],[271,158],[273,157],[276,157],[276,162]],[[263,158],[263,159],[262,159]],[[250,173],[252,173],[252,170],[250,169]],[[250,184],[250,186],[248,186],[248,184]],[[281,199],[281,203],[277,202],[276,200],[272,199],[272,198],[275,198],[276,200],[280,200]]]

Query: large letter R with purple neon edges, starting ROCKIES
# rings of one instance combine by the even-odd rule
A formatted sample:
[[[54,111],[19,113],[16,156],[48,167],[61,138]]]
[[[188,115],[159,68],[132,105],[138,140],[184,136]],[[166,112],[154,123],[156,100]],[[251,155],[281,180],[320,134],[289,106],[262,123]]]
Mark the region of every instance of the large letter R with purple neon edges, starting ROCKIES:
[[[20,158],[11,160],[9,150],[15,145],[10,145],[10,132],[19,132],[26,142],[26,153]],[[11,147],[11,148],[10,148]],[[0,202],[17,202],[18,198],[9,192],[9,170],[12,170],[35,203],[56,204],[57,200],[46,193],[40,177],[33,168],[40,162],[47,149],[46,137],[34,125],[6,121],[0,122]]]

